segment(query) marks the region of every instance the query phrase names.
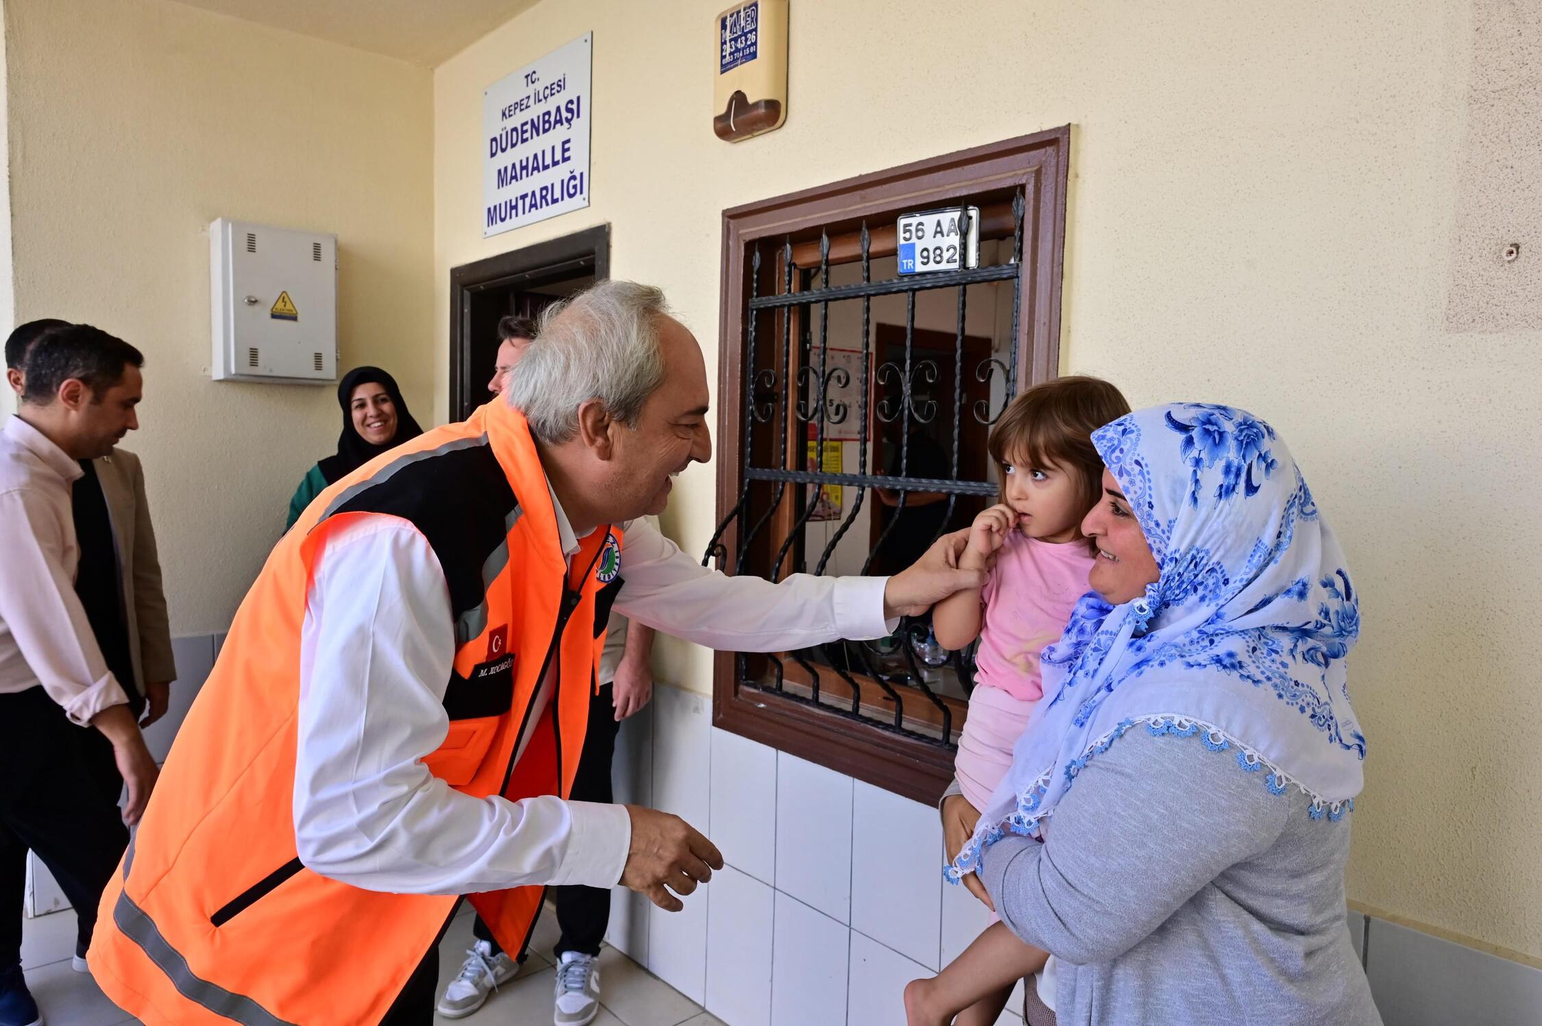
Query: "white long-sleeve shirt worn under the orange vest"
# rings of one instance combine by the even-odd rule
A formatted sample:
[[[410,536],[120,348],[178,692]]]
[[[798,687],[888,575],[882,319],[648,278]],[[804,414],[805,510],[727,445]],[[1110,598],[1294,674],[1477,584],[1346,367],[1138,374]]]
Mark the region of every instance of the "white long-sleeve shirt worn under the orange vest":
[[[557,503],[564,554],[578,549]],[[785,651],[882,637],[884,577],[773,585],[703,568],[634,521],[614,609],[714,648]],[[510,802],[455,791],[423,765],[449,731],[444,690],[455,660],[449,588],[429,542],[392,517],[327,538],[301,633],[295,836],[311,870],[370,890],[475,893],[524,884],[611,887],[631,847],[621,805],[554,795]],[[543,680],[529,727],[540,721]]]

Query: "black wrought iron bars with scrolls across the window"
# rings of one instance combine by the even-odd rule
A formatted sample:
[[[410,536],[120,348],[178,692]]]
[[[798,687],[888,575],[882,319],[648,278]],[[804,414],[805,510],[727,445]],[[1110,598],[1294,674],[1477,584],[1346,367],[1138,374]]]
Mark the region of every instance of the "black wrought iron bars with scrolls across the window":
[[[742,430],[743,454],[746,460],[742,471],[739,501],[719,523],[708,546],[708,554],[702,560],[703,565],[715,560],[719,568],[726,565],[734,574],[760,571],[773,580],[779,580],[783,572],[805,572],[806,559],[794,555],[794,552],[802,548],[797,543],[803,538],[803,531],[819,506],[820,491],[825,486],[853,488],[856,489],[856,500],[842,517],[840,526],[823,545],[823,549],[814,565],[814,574],[825,572],[836,548],[847,537],[851,526],[857,521],[857,517],[862,515],[868,489],[887,489],[899,492],[899,497],[896,503],[896,515],[888,520],[887,526],[873,542],[867,554],[860,571],[864,574],[871,569],[873,560],[879,555],[885,542],[888,542],[891,532],[901,523],[901,517],[913,492],[934,492],[945,495],[944,501],[947,503],[947,515],[942,518],[944,525],[951,523],[954,508],[961,497],[981,495],[988,500],[996,495],[995,483],[988,480],[965,480],[959,477],[959,443],[962,437],[959,429],[965,415],[976,418],[981,424],[993,424],[1001,415],[1004,404],[1012,401],[1016,392],[1018,380],[1018,347],[1015,344],[1008,346],[1005,363],[996,356],[987,356],[971,369],[975,380],[979,383],[988,384],[993,376],[1002,376],[1005,384],[1004,403],[996,409],[990,409],[988,401],[976,400],[970,404],[971,409],[965,412],[964,338],[967,327],[968,287],[988,282],[1012,282],[1010,339],[1016,339],[1018,318],[1021,316],[1021,289],[1018,289],[1018,279],[1022,273],[1024,207],[1022,191],[1015,191],[1010,202],[1012,244],[1004,262],[953,272],[938,272],[931,275],[896,276],[885,281],[873,281],[871,235],[867,222],[864,221],[859,228],[860,282],[847,285],[833,285],[830,282],[830,235],[828,230],[822,230],[819,238],[817,268],[806,268],[817,279],[817,287],[805,290],[794,289],[797,276],[805,272],[805,268],[800,268],[794,261],[793,241],[788,238],[782,242],[780,259],[777,261],[780,289],[771,295],[760,295],[759,285],[762,281],[760,272],[763,256],[760,244],[756,242],[752,245],[749,256],[751,272],[748,275],[748,316],[745,319],[746,358],[743,364],[745,373],[742,375],[743,397],[740,407],[745,412],[742,417]],[[962,238],[968,238],[970,213],[967,207],[961,210],[959,218],[959,235]],[[953,367],[950,369],[951,373],[939,369],[936,359],[917,358],[913,344],[916,332],[916,296],[922,292],[944,289],[956,292],[958,305],[958,327],[954,333]],[[905,296],[907,316],[904,358],[899,361],[890,359],[877,363],[873,352],[871,302],[876,296],[888,295]],[[834,302],[862,304],[859,370],[859,376],[862,380],[856,383],[851,381],[850,369],[843,366],[831,367],[830,364],[830,305]],[[813,338],[794,339],[794,318],[782,316],[779,318],[780,339],[777,341],[773,336],[773,344],[780,346],[780,359],[776,367],[760,367],[757,361],[760,353],[757,350],[762,344],[762,332],[759,329],[763,319],[762,312],[788,310],[794,307],[808,310],[816,305],[820,309],[820,316],[817,318],[817,343],[814,343]],[[810,321],[811,318],[808,316],[800,318],[800,322],[805,327],[810,326]],[[811,335],[811,332],[808,333]],[[793,350],[794,344],[799,346],[799,353],[796,355]],[[919,398],[922,390],[917,384],[936,384],[948,378],[951,378],[953,383],[953,401],[948,410],[939,409],[939,403],[934,398]],[[850,403],[831,397],[833,386],[840,390],[856,386],[854,390],[859,397],[859,409],[856,410],[856,474],[828,472],[822,469],[825,463],[823,451],[827,444],[827,427],[847,423],[848,417],[853,413]],[[871,443],[868,403],[870,395],[874,395],[879,386],[899,387],[897,398],[885,397],[877,400],[874,403],[876,409],[871,410],[873,418],[879,423],[899,424],[897,475],[870,474],[868,467],[868,447]],[[910,427],[913,424],[931,424],[934,418],[944,412],[951,415],[951,457],[948,477],[910,477],[907,474],[910,464]],[[749,455],[756,452],[756,432],[760,426],[769,426],[769,430],[773,430],[777,438],[776,466],[754,466],[749,458]],[[813,464],[820,469],[791,469],[793,463],[790,461],[788,452],[790,438],[802,438],[805,434],[797,430],[796,426],[805,426],[806,434],[813,435],[811,441],[814,443],[814,449],[817,452],[817,458],[813,460]],[[791,454],[791,457],[793,461],[797,460],[796,452]],[[751,497],[751,488],[756,481],[768,481],[774,486],[769,501],[763,503],[759,509],[757,503],[754,503]],[[782,508],[790,486],[794,486],[805,494],[805,498],[802,498],[800,503],[794,500],[796,506],[800,505],[796,520],[780,540],[776,557],[771,560],[768,568],[746,568],[746,557],[749,555],[754,542],[763,531],[766,531],[774,512]],[[722,538],[734,521],[746,521],[748,528],[739,532],[736,551],[729,554]],[[740,526],[743,526],[743,523]],[[931,540],[934,542],[942,535],[942,532],[944,528],[939,526]],[[897,631],[897,637],[901,639],[897,653],[901,654],[904,665],[890,668],[880,665],[884,660],[880,659],[877,645],[873,642],[819,646],[823,657],[817,659],[817,662],[811,657],[811,650],[786,653],[786,659],[802,668],[803,674],[800,674],[800,677],[806,680],[805,688],[788,687],[786,663],[779,654],[766,657],[771,667],[769,680],[757,679],[759,674],[752,674],[749,671],[749,657],[743,653],[737,654],[736,677],[740,687],[766,688],[785,697],[808,702],[811,705],[822,705],[845,716],[876,724],[904,736],[951,747],[956,736],[953,708],[933,690],[927,679],[927,668],[934,670],[942,665],[951,667],[964,694],[967,696],[973,688],[973,653],[945,653],[942,659],[938,660],[934,656],[938,650],[934,650],[934,646],[928,648],[927,645],[928,634],[930,631],[924,622],[907,619]],[[857,662],[860,673],[868,680],[877,683],[884,696],[887,696],[893,707],[891,713],[890,710],[864,705],[864,688],[853,674],[853,659]],[[827,693],[825,676],[820,671],[820,665],[823,667],[823,674],[830,674],[845,685],[843,690],[850,691],[848,699],[842,696],[842,700],[833,700],[833,696]],[[936,717],[941,717],[941,724],[934,728],[934,733],[933,730],[927,730],[914,722],[914,717],[907,722],[907,691],[913,700],[925,700],[933,710],[936,710]]]

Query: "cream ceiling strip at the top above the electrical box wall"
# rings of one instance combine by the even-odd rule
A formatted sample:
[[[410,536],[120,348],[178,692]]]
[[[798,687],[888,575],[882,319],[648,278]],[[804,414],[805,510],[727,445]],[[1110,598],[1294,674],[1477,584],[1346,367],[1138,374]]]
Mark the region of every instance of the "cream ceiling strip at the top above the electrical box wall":
[[[179,0],[432,68],[540,0]]]

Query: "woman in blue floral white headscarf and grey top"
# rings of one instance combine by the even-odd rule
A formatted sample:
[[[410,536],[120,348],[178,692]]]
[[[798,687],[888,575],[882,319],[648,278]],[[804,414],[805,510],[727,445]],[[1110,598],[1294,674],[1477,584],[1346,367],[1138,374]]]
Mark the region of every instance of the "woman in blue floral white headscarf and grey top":
[[[948,866],[1055,957],[1056,1021],[1380,1023],[1345,924],[1357,594],[1284,443],[1224,406],[1099,429],[1098,562]]]

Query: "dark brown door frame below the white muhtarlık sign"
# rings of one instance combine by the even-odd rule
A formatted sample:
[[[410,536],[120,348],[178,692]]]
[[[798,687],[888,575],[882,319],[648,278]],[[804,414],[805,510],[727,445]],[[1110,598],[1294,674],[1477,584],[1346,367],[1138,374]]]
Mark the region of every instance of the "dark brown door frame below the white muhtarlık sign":
[[[467,380],[472,296],[489,289],[535,287],[567,278],[611,276],[611,225],[537,242],[450,268],[450,417],[486,398],[481,381]]]

